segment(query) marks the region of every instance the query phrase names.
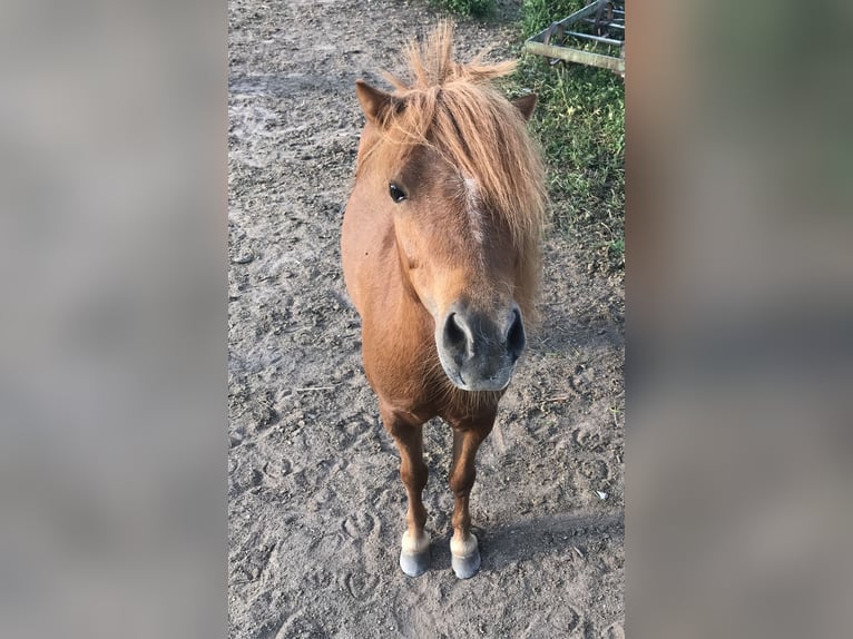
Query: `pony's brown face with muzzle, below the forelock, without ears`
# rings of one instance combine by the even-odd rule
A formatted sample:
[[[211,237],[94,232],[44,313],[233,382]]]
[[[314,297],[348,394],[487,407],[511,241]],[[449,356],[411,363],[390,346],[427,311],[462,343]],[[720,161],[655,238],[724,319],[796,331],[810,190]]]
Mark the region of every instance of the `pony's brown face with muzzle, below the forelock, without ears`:
[[[435,322],[445,374],[465,391],[503,390],[524,348],[509,229],[477,179],[434,150],[414,149],[388,175],[379,197],[392,207],[406,281]]]

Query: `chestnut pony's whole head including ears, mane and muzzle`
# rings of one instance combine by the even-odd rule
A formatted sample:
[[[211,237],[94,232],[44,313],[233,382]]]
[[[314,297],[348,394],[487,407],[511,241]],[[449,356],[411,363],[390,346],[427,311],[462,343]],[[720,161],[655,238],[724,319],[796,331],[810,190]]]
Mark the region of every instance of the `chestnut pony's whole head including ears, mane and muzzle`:
[[[507,100],[491,80],[512,62],[452,58],[441,24],[408,51],[411,82],[357,82],[367,124],[357,179],[393,218],[410,293],[435,323],[447,376],[464,391],[509,384],[533,314],[545,191],[527,132],[536,96]]]

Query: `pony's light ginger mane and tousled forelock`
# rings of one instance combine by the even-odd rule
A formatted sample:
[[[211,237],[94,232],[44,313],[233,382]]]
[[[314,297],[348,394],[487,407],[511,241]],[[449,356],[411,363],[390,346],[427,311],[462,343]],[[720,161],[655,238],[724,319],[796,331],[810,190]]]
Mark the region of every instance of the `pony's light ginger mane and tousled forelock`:
[[[546,206],[543,167],[524,117],[493,85],[516,62],[487,63],[487,52],[469,63],[455,61],[449,22],[440,23],[422,46],[411,42],[405,50],[411,79],[385,73],[399,104],[380,122],[386,144],[366,155],[393,163],[405,148],[428,146],[477,180],[484,204],[506,223],[522,256],[518,302],[533,318]]]

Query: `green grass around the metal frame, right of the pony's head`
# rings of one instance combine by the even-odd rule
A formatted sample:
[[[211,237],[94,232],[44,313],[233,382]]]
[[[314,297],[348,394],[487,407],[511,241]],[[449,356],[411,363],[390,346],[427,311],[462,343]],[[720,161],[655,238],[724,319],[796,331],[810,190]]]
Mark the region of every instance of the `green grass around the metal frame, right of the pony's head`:
[[[522,39],[586,3],[526,0]],[[539,97],[531,128],[546,157],[553,228],[572,236],[594,265],[622,271],[625,82],[611,71],[524,53],[507,89]]]

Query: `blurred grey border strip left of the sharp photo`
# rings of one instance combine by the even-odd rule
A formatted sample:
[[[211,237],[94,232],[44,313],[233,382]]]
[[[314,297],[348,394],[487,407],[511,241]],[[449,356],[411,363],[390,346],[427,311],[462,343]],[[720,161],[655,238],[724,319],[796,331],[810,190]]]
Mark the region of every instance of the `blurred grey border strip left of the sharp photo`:
[[[0,636],[224,636],[226,3],[0,48]]]

